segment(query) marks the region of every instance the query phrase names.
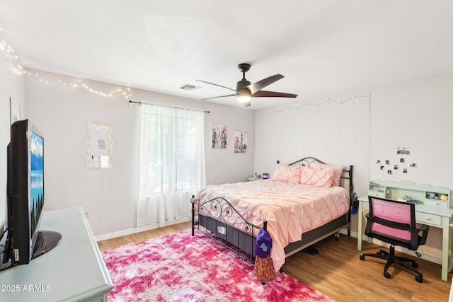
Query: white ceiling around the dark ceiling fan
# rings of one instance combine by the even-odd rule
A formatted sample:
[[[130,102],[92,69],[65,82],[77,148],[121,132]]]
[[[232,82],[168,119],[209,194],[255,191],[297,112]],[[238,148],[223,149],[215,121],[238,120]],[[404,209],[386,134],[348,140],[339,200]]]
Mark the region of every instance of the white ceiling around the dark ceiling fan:
[[[26,68],[194,99],[243,62],[296,100],[453,72],[453,0],[0,0],[0,23]]]

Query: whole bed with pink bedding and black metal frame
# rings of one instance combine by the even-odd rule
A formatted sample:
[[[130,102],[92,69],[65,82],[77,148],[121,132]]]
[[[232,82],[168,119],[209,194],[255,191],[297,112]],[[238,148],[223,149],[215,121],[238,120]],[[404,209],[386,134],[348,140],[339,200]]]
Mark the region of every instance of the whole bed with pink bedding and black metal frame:
[[[350,235],[352,165],[306,157],[282,165],[269,180],[208,185],[190,200],[192,234],[201,231],[254,261],[260,228],[273,240],[275,270],[285,257],[347,229]]]

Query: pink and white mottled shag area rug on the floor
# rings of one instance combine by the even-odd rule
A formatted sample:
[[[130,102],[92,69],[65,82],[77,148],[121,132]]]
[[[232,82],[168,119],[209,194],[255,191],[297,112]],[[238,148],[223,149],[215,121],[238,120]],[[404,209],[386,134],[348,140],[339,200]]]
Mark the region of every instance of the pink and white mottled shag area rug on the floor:
[[[108,301],[333,301],[277,273],[264,286],[253,264],[190,230],[103,252],[115,288]]]

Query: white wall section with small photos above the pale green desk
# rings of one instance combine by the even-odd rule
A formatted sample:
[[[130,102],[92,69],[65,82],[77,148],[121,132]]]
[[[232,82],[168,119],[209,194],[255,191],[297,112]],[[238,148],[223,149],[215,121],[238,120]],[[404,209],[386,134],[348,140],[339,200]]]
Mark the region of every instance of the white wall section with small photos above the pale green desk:
[[[453,74],[376,88],[372,91],[370,178],[411,180],[453,189]],[[398,156],[397,148],[410,155]],[[389,175],[376,161],[403,157],[416,168]],[[403,165],[399,165],[401,168]],[[392,167],[390,167],[392,168]]]

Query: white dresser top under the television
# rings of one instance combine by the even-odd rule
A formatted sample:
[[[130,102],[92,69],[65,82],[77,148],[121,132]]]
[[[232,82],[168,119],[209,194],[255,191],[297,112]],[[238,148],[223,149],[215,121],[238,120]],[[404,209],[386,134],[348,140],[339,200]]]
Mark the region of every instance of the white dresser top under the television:
[[[28,265],[0,272],[1,301],[107,301],[113,283],[82,208],[45,211],[40,229],[62,242]]]

